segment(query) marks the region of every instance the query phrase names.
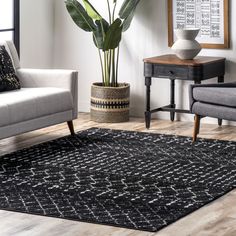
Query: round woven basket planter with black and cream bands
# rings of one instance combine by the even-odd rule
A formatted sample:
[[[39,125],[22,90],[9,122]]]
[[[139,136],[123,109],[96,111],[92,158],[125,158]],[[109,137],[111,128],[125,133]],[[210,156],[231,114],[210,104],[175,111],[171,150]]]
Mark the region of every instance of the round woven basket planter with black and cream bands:
[[[91,87],[91,120],[102,123],[129,121],[129,84],[104,87],[94,83]]]

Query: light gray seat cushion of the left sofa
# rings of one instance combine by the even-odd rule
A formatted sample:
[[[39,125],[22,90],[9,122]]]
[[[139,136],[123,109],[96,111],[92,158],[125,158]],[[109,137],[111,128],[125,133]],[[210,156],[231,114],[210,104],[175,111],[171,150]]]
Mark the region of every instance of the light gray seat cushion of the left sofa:
[[[0,127],[73,109],[69,90],[22,88],[0,93]]]

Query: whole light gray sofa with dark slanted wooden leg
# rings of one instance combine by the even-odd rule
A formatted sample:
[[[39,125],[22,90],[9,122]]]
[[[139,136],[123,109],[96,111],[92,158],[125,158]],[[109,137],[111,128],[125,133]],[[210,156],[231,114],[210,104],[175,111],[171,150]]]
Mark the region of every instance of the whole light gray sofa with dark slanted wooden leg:
[[[78,73],[71,70],[24,69],[11,41],[1,42],[10,54],[22,88],[0,93],[0,139],[67,122],[74,134]]]

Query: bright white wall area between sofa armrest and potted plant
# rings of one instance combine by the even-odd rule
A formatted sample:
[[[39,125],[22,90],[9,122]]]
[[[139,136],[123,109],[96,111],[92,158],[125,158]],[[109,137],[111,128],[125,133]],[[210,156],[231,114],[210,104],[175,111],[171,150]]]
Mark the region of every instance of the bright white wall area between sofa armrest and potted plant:
[[[90,86],[101,80],[98,52],[91,34],[70,18],[64,0],[57,0],[55,7],[54,68],[79,71],[79,111],[89,111]]]

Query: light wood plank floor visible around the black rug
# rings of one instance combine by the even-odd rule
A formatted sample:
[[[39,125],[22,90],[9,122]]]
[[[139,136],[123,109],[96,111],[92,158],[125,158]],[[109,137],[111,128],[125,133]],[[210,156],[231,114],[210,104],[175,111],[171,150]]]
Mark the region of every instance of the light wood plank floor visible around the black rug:
[[[122,124],[97,124],[89,114],[79,114],[75,130],[90,127],[135,130],[191,136],[193,123],[154,120],[146,130],[144,120]],[[69,134],[66,124],[0,140],[0,155]],[[236,127],[202,124],[200,137],[236,141]],[[0,236],[236,236],[236,190],[182,218],[157,233],[81,223],[49,217],[0,211]]]

